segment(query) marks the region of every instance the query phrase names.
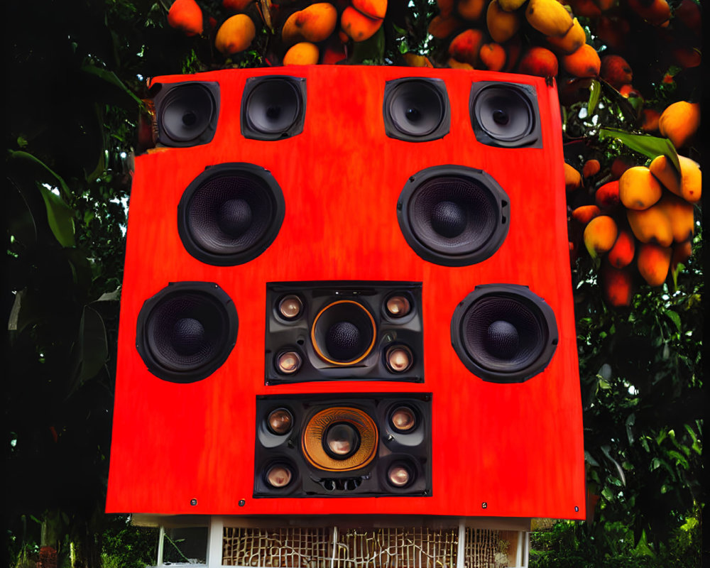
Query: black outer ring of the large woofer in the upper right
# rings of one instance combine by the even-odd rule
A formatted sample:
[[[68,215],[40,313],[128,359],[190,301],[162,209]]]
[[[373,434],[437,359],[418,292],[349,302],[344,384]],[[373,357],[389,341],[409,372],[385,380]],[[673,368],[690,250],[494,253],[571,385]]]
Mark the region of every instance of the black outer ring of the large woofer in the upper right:
[[[433,178],[447,177],[469,178],[476,185],[482,185],[491,193],[491,201],[494,202],[498,219],[500,219],[496,231],[493,231],[493,234],[486,239],[482,246],[469,253],[445,254],[432,249],[417,236],[410,219],[410,204],[419,187]],[[407,180],[397,202],[397,220],[405,240],[420,258],[439,266],[470,266],[493,256],[506,240],[510,226],[510,198],[503,187],[483,170],[467,168],[464,165],[437,165],[421,170]]]

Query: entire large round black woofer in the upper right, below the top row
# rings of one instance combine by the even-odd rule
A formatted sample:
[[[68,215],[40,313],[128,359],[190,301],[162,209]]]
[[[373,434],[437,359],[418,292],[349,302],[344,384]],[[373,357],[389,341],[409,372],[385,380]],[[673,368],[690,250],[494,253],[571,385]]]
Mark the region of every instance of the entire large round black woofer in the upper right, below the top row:
[[[510,200],[486,172],[442,165],[409,178],[397,218],[409,246],[425,261],[467,266],[486,260],[503,244]]]

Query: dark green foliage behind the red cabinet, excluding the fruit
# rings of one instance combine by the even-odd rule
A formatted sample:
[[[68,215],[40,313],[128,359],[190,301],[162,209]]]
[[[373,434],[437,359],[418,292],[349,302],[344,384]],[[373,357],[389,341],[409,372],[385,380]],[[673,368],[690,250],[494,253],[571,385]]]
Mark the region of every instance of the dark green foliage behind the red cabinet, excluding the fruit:
[[[351,62],[398,63],[408,50],[436,60],[441,46],[426,35],[436,5],[400,4]],[[216,0],[202,5],[217,21],[226,16]],[[4,9],[2,509],[9,566],[33,567],[45,545],[58,550],[60,567],[141,567],[155,561],[155,532],[103,508],[124,204],[144,79],[263,65],[268,34],[224,60],[209,33],[185,38],[168,28],[166,6],[153,0],[35,0]],[[697,73],[677,72],[672,86],[643,75],[662,66],[654,50],[639,50],[648,65],[635,70],[655,89],[659,108],[697,96]],[[599,124],[638,131],[628,105],[613,93],[602,100]],[[581,167],[594,155],[603,174],[620,153],[645,162],[617,141],[600,141],[598,125],[578,118],[585,104],[565,108],[569,163]],[[677,290],[641,287],[623,310],[604,304],[591,259],[573,263],[587,479],[599,503],[592,522],[533,533],[533,566],[700,564],[700,229]]]

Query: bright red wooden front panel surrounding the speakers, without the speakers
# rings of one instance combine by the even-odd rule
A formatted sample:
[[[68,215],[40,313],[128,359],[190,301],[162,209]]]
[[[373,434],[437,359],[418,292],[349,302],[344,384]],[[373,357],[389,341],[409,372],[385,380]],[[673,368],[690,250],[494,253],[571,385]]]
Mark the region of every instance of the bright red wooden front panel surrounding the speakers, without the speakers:
[[[258,75],[306,77],[302,134],[281,141],[240,133],[244,82]],[[384,134],[385,82],[440,77],[451,103],[444,138],[411,143]],[[579,371],[567,246],[557,93],[537,77],[398,67],[224,70],[157,82],[216,81],[217,133],[209,144],[136,158],[121,302],[108,512],[585,516]],[[496,148],[474,136],[471,82],[530,84],[537,91],[542,148]],[[285,197],[273,244],[241,266],[197,261],[182,246],[177,207],[209,165],[247,162],[271,171]],[[417,256],[396,205],[410,175],[435,165],[485,170],[510,197],[503,245],[474,266],[437,266]],[[153,376],[136,351],[143,302],[168,283],[217,283],[234,300],[239,334],[212,376],[176,384]],[[422,282],[425,382],[337,381],[264,385],[266,283],[288,280]],[[451,345],[454,308],[478,284],[528,285],[557,319],[559,344],[545,371],[525,383],[487,383]],[[252,498],[256,395],[432,393],[432,496]],[[197,500],[196,505],[191,501]],[[246,504],[239,506],[244,499]],[[486,503],[483,508],[482,503]]]

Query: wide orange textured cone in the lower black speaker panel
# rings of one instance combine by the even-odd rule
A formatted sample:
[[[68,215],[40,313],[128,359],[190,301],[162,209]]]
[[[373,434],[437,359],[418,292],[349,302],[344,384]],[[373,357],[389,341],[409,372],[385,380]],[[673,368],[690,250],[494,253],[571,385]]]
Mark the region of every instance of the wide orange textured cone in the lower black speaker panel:
[[[343,457],[334,457],[337,452],[328,452],[326,440],[331,427],[354,429],[358,444]],[[368,465],[377,453],[378,432],[374,420],[357,408],[326,408],[315,414],[303,430],[301,448],[312,466],[324,471],[353,471]]]

